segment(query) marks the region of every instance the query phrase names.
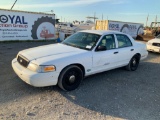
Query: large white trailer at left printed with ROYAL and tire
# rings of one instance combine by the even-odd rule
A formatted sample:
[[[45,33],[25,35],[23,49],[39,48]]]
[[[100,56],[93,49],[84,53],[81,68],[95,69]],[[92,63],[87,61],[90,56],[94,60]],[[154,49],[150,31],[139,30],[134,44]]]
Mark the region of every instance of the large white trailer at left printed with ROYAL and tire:
[[[55,14],[0,9],[0,41],[55,37]]]

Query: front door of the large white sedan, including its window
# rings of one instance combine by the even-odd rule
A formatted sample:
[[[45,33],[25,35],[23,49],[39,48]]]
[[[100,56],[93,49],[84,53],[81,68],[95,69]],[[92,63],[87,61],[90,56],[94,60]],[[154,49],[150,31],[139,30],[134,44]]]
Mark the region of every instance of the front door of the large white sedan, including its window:
[[[92,72],[102,72],[116,67],[118,50],[113,34],[105,35],[93,51]]]

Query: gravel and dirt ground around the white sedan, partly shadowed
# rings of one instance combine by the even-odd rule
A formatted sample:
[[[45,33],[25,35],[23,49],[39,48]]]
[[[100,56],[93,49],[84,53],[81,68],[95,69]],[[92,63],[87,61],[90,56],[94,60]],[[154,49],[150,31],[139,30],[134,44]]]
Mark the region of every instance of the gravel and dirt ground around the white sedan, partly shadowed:
[[[14,73],[18,51],[52,42],[0,43],[2,120],[159,120],[160,54],[149,53],[137,71],[122,68],[87,77],[71,92],[36,88]]]

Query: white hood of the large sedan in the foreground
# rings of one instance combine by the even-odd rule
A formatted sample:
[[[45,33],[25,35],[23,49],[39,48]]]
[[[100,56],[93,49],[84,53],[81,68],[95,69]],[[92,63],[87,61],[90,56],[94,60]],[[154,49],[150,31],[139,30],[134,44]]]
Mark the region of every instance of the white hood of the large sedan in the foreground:
[[[44,45],[26,49],[20,51],[19,54],[27,58],[29,61],[31,61],[49,56],[59,56],[59,57],[70,56],[72,54],[77,54],[84,51],[86,50],[58,43],[58,44],[50,44],[50,45]]]

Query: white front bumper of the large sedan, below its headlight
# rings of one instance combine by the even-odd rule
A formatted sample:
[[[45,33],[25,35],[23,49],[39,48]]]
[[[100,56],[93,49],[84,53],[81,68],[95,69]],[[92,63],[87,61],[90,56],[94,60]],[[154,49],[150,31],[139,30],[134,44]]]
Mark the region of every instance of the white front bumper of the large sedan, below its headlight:
[[[21,66],[17,59],[12,60],[12,67],[15,73],[26,83],[35,87],[44,87],[56,85],[58,81],[59,73],[47,72],[47,73],[37,73]]]

